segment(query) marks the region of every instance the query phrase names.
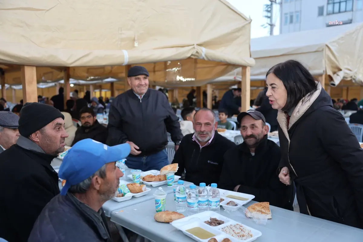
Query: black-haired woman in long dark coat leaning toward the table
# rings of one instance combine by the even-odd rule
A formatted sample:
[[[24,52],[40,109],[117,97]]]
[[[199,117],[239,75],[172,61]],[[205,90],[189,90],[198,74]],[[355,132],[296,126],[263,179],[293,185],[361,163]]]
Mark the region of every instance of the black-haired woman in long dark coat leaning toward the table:
[[[295,182],[303,214],[363,227],[363,150],[330,96],[298,61],[266,74],[281,148],[280,181]]]

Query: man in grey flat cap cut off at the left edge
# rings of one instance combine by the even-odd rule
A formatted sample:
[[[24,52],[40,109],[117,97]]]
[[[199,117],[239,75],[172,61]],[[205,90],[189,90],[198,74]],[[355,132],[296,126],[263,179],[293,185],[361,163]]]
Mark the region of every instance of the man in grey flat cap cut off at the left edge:
[[[0,111],[0,153],[16,143],[19,138],[19,116],[8,111]]]

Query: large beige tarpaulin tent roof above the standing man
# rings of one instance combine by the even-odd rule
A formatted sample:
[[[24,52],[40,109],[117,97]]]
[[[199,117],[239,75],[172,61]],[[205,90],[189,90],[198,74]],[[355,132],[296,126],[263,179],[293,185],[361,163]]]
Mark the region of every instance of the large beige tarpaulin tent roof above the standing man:
[[[225,0],[4,0],[0,67],[15,84],[13,64],[58,66],[37,68],[54,81],[65,66],[78,80],[122,80],[125,65],[149,63],[151,85],[202,85],[254,65],[250,22]]]

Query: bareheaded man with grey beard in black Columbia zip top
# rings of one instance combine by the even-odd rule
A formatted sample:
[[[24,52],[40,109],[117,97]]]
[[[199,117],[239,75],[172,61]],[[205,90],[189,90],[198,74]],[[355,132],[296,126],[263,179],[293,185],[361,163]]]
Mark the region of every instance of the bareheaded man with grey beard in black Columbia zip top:
[[[217,132],[215,114],[208,108],[199,109],[193,118],[194,134],[187,134],[180,142],[172,163],[178,163],[176,175],[185,169],[185,181],[199,185],[218,183],[224,153],[236,146]]]

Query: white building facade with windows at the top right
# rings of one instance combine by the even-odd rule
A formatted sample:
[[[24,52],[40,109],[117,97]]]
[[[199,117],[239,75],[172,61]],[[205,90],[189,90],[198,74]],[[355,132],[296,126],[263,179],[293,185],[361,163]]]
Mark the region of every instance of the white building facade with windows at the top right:
[[[280,34],[363,22],[363,0],[280,1]]]

